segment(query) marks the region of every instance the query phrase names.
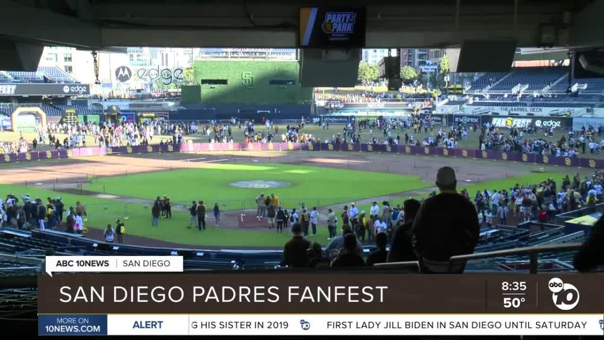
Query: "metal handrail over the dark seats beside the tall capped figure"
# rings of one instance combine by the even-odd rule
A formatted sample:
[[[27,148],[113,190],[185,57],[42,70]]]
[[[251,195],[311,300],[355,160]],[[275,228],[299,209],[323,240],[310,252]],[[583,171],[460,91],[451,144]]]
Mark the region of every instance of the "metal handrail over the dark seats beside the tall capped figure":
[[[563,252],[567,250],[577,250],[580,249],[582,243],[573,242],[573,243],[565,243],[565,244],[554,244],[547,246],[533,246],[533,247],[521,247],[515,249],[507,249],[507,250],[495,250],[492,252],[484,252],[484,253],[473,253],[469,255],[458,255],[451,257],[449,259],[449,272],[452,271],[455,265],[464,264],[467,261],[471,260],[480,260],[483,258],[496,258],[496,257],[504,257],[510,255],[528,255],[530,270],[529,273],[536,274],[539,269],[539,253],[544,252]],[[411,267],[419,267],[419,261],[405,261],[405,262],[392,262],[392,263],[379,263],[374,264],[376,267],[398,267],[398,268],[411,268]]]

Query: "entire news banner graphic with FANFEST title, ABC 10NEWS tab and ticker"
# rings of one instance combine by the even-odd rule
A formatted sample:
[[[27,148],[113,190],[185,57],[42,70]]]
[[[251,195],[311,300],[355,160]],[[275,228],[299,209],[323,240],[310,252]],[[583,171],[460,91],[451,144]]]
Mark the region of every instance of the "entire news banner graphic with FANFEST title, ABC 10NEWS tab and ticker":
[[[597,274],[185,273],[47,257],[39,335],[603,335]]]

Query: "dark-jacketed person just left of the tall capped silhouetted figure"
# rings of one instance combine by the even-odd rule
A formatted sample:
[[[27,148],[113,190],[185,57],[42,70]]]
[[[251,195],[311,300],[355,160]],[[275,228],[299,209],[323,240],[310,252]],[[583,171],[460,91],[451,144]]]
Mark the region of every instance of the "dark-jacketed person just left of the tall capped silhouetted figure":
[[[411,241],[413,234],[411,233],[411,227],[413,227],[413,220],[415,219],[420,206],[421,203],[413,198],[406,200],[403,203],[405,223],[399,226],[394,232],[390,252],[388,252],[388,262],[417,260],[417,256],[413,252],[413,243]]]

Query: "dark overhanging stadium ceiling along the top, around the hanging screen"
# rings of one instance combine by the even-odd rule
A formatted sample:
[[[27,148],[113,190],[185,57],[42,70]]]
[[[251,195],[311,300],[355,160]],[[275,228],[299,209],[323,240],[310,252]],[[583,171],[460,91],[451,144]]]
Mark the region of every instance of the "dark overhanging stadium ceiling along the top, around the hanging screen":
[[[604,45],[602,1],[351,0],[331,5],[367,7],[367,47],[442,48],[464,39],[493,38],[518,39],[521,47]],[[96,50],[294,48],[304,6],[309,2],[15,0],[3,4],[11,15],[2,18],[0,35],[9,41]]]

